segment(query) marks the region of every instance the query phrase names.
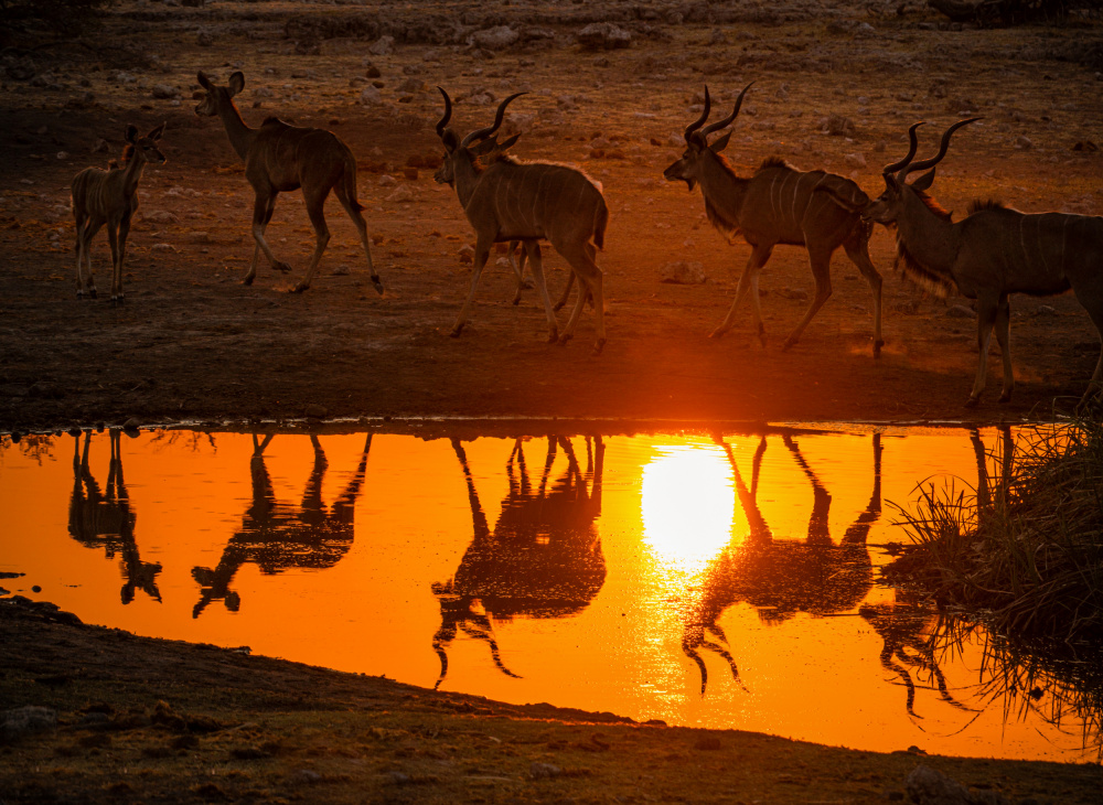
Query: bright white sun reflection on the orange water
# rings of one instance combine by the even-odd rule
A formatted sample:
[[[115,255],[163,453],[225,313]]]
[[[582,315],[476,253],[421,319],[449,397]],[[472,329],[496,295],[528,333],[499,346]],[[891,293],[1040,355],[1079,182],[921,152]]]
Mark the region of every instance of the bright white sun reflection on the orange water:
[[[731,540],[731,466],[711,444],[657,452],[643,468],[643,540],[668,570],[692,576]]]

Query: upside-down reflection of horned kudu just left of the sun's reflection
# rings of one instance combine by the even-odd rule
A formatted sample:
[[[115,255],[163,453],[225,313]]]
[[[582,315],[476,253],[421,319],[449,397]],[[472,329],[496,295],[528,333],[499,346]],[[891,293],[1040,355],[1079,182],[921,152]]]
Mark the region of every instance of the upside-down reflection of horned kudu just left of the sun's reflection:
[[[601,473],[606,447],[601,437],[586,439],[585,472],[569,439],[548,436],[544,471],[535,490],[529,481],[522,440],[506,463],[510,491],[491,530],[479,503],[463,444],[452,448],[463,468],[471,503],[474,538],[456,575],[435,583],[440,601],[440,629],[432,648],[440,657],[440,687],[448,674],[448,646],[459,631],[490,646],[494,665],[517,677],[502,662],[493,620],[515,615],[565,618],[581,612],[606,580],[606,559],[596,520],[601,514]],[[567,457],[567,470],[548,489],[557,447]]]

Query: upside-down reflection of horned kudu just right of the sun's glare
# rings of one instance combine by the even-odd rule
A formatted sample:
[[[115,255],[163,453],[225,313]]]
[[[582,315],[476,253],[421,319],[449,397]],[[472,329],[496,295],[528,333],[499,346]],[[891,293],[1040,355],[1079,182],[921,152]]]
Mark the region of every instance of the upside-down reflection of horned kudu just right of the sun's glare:
[[[728,648],[727,636],[717,623],[732,604],[747,602],[767,623],[780,623],[797,612],[829,615],[856,608],[872,586],[872,565],[866,549],[869,528],[881,513],[881,436],[874,433],[874,489],[866,508],[846,529],[842,541],[832,541],[828,528],[832,496],[812,470],[792,436],[782,441],[812,485],[812,515],[806,538],[775,539],[758,507],[759,473],[765,454],[762,437],[751,462],[748,489],[739,472],[731,444],[717,437],[728,457],[736,495],[747,516],[748,534],[735,535],[731,543],[704,571],[699,594],[685,614],[682,651],[700,669],[700,693],[705,695],[708,670],[700,655],[711,651],[728,663],[732,678],[742,685],[739,668]]]

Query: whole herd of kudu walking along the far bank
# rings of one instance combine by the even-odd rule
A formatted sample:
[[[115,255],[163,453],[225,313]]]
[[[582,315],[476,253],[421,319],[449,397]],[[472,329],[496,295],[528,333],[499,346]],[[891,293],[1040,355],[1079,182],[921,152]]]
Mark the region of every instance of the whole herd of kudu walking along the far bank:
[[[332,190],[356,226],[372,282],[382,294],[383,283],[372,262],[362,214],[364,206],[356,198],[356,160],[349,147],[330,131],[290,126],[276,117],[250,128],[234,104],[234,96],[245,87],[243,73],[231,75],[226,86],[215,84],[203,73],[197,77],[204,95],[195,114],[221,118],[231,144],[245,162],[245,176],[256,194],[253,210],[256,246],[244,282],[249,285],[256,277],[261,253],[272,269],[291,270],[272,254],[265,232],[279,193],[301,189],[314,228],[315,247],[307,273],[293,291],[302,292],[310,287],[330,239],[323,205]],[[783,348],[791,347],[831,297],[831,257],[842,246],[872,290],[874,356],[878,357],[884,344],[881,276],[868,251],[875,223],[895,229],[897,265],[906,276],[943,297],[955,292],[976,300],[979,365],[968,406],[975,406],[984,390],[993,329],[1004,366],[999,399],[1010,399],[1014,380],[1008,343],[1009,294],[1048,296],[1071,288],[1096,331],[1103,334],[1103,217],[1064,213],[1027,215],[998,202],[975,201],[966,217],[954,223],[950,213],[928,194],[935,167],[946,155],[951,135],[978,118],[951,126],[942,137],[938,154],[918,162],[913,161],[918,150],[915,130],[922,124],[912,126],[908,132],[908,155],[884,168],[885,192],[871,200],[849,179],[822,170],[799,171],[779,158],[768,159],[750,176],[738,175],[721,154],[731,132],[711,143],[708,136],[736,121],[749,88],[750,85],[739,94],[730,115],[706,125],[711,109],[706,87],[704,109],[685,129],[685,153],[663,173],[668,181],[686,182],[690,191],[699,184],[713,226],[726,238],[742,236],[751,246],[731,308],[711,337],[731,329],[736,309],[749,293],[756,332],[764,343],[759,271],[774,246],[802,246],[808,254],[815,291],[803,319],[784,342]],[[507,153],[520,135],[499,142],[497,131],[506,107],[523,93],[511,95],[499,105],[492,125],[463,138],[448,128],[452,101],[443,89],[440,94],[445,110],[436,131],[445,147],[445,159],[433,178],[456,190],[475,233],[471,289],[451,335],[459,336],[463,330],[491,247],[507,243],[508,260],[517,277],[514,303],[520,299],[527,259],[547,314],[548,341],[561,344],[569,341],[590,301],[597,330],[593,352],[599,354],[606,343],[604,289],[596,256],[603,247],[609,221],[600,183],[568,165],[521,161]],[[116,304],[122,302],[122,266],[130,219],[138,208],[138,182],[147,162],[164,161],[156,147],[163,129],[163,125],[159,126],[141,138],[133,126],[128,126],[124,167],[113,163],[107,171],[88,168],[74,179],[78,297],[85,293],[96,297],[88,245],[107,224],[114,272],[111,300]],[[927,172],[909,183],[908,175],[919,171]],[[550,243],[571,270],[567,289],[555,308],[544,278],[540,240]],[[515,259],[518,249],[521,256]],[[566,302],[576,278],[578,298],[560,333],[555,311]],[[1084,399],[1090,396],[1103,397],[1103,345]]]

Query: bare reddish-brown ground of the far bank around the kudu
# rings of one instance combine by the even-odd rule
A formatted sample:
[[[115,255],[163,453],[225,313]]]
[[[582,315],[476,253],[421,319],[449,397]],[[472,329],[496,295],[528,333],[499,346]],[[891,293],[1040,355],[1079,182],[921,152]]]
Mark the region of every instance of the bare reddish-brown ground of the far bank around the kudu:
[[[409,13],[419,6],[446,8],[415,3]],[[662,14],[683,8],[651,6]],[[727,151],[742,172],[780,154],[800,168],[853,174],[877,194],[880,165],[901,155],[910,122],[927,119],[936,133],[975,109],[985,122],[959,135],[935,183],[947,208],[993,195],[1026,211],[1096,213],[1103,157],[1072,150],[1103,141],[1103,109],[1093,100],[1101,40],[1094,23],[928,30],[938,18],[918,8],[882,19],[843,4],[794,2],[792,21],[771,11],[753,22],[745,19],[750,11],[739,17],[718,7],[710,13],[719,22],[667,24],[662,17],[624,21],[612,7],[606,15],[632,34],[631,46],[589,51],[572,34],[600,17],[593,9],[585,15],[576,4],[514,3],[479,17],[470,11],[479,4],[454,3],[447,7],[454,19],[473,20],[448,34],[461,42],[463,31],[501,23],[554,39],[496,50],[403,44],[404,36],[429,34],[394,23],[386,30],[397,31],[399,43],[373,55],[379,29],[353,23],[390,18],[371,8],[121,3],[95,37],[95,52],[6,51],[0,429],[304,415],[995,421],[1046,414],[1054,397],[1074,398],[1085,387],[1099,346],[1075,299],[1015,299],[1015,399],[995,402],[997,359],[989,362],[983,407],[964,410],[975,326],[947,315],[964,300],[928,299],[907,283],[892,269],[892,237],[880,228],[871,242],[886,277],[888,343],[879,361],[871,356],[869,290],[842,251],[833,262],[834,296],[795,348],[782,352],[780,344],[812,291],[796,247],[779,247],[763,271],[765,348],[752,337],[749,310],[745,324],[709,341],[749,248],[726,244],[705,222],[699,191],[687,195],[684,184],[664,182],[662,170],[681,153],[677,133],[697,114],[706,83],[727,106],[756,79]],[[310,35],[297,39],[303,30]],[[324,35],[357,30],[367,35]],[[366,78],[365,65],[381,77]],[[298,193],[280,196],[269,228],[296,271],[261,266],[253,287],[240,283],[253,251],[253,195],[218,120],[192,112],[200,68],[221,80],[232,68],[244,71],[239,100],[248,122],[278,114],[331,128],[352,147],[383,298],[332,197],[333,239],[320,273],[307,293],[288,293],[313,246]],[[373,80],[383,85],[382,103],[364,105]],[[461,131],[486,125],[508,92],[529,90],[507,124],[523,131],[516,153],[577,163],[604,185],[611,221],[599,264],[609,342],[600,357],[590,354],[589,312],[574,343],[544,343],[536,292],[510,304],[513,279],[502,266],[484,273],[463,335],[448,336],[469,286],[459,251],[473,240],[471,228],[431,169],[406,170],[439,159],[437,84],[460,99],[453,122]],[[853,131],[823,133],[831,115],[847,118]],[[100,298],[79,301],[69,181],[118,157],[126,124],[147,130],[162,120],[169,161],[142,180],[126,304],[104,298],[103,233],[94,247]],[[547,254],[557,294],[565,262]],[[675,260],[700,261],[707,281],[662,282],[663,267]]]

